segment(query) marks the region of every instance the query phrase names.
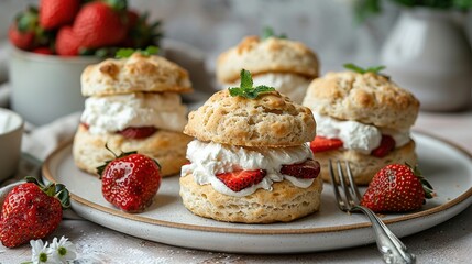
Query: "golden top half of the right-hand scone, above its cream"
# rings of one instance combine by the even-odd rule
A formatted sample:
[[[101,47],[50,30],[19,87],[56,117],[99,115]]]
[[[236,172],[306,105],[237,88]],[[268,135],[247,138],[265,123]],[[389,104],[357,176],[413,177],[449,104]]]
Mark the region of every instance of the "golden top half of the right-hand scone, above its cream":
[[[405,130],[416,121],[419,101],[387,77],[354,72],[328,73],[311,81],[304,106],[340,120]]]

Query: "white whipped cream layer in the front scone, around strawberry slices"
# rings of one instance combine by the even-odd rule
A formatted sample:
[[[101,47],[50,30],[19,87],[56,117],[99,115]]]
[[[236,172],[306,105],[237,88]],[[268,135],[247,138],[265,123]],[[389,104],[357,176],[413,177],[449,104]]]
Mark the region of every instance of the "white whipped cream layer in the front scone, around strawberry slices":
[[[307,144],[292,147],[241,147],[194,140],[188,144],[187,158],[191,163],[182,167],[183,176],[193,173],[197,184],[211,184],[217,191],[229,196],[248,196],[259,188],[272,190],[274,182],[284,179],[300,188],[308,188],[314,182],[314,179],[300,179],[279,172],[282,165],[301,163],[307,158],[312,158],[312,153]],[[261,183],[240,191],[231,190],[216,177],[220,173],[240,169],[265,169],[266,176]]]

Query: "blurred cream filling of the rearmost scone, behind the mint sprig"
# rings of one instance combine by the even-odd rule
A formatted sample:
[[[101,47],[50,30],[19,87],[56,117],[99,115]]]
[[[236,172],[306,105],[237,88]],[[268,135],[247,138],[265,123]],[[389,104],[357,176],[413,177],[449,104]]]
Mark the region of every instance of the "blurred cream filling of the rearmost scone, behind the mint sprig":
[[[265,85],[274,87],[281,94],[289,97],[294,102],[301,103],[307,91],[310,79],[296,74],[267,73],[253,76],[254,86]],[[238,79],[234,84],[224,84],[222,89],[240,85]]]

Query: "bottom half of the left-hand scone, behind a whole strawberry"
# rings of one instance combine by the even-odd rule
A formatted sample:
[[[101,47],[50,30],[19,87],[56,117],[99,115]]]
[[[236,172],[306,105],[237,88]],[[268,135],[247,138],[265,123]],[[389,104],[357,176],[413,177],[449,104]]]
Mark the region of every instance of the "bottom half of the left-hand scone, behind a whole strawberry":
[[[187,163],[187,144],[193,139],[183,133],[158,130],[146,139],[127,139],[120,134],[94,135],[80,124],[74,138],[73,157],[78,168],[97,175],[97,167],[103,165],[113,155],[105,148],[107,143],[110,150],[121,152],[136,151],[155,158],[161,164],[161,175],[171,176],[180,172]],[[98,175],[97,175],[98,176]]]

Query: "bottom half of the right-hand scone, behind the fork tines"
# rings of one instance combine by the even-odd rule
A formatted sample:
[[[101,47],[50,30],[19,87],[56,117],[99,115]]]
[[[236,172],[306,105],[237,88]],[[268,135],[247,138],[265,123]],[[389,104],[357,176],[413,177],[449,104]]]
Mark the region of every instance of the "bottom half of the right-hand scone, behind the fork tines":
[[[329,175],[329,161],[348,161],[354,176],[354,182],[358,185],[369,185],[374,175],[388,164],[405,164],[415,165],[418,161],[415,152],[415,141],[410,141],[406,145],[395,148],[388,155],[384,157],[375,157],[372,155],[362,154],[356,151],[348,150],[334,150],[327,152],[315,153],[315,160],[321,165],[320,176],[325,182],[330,183],[331,177]]]

